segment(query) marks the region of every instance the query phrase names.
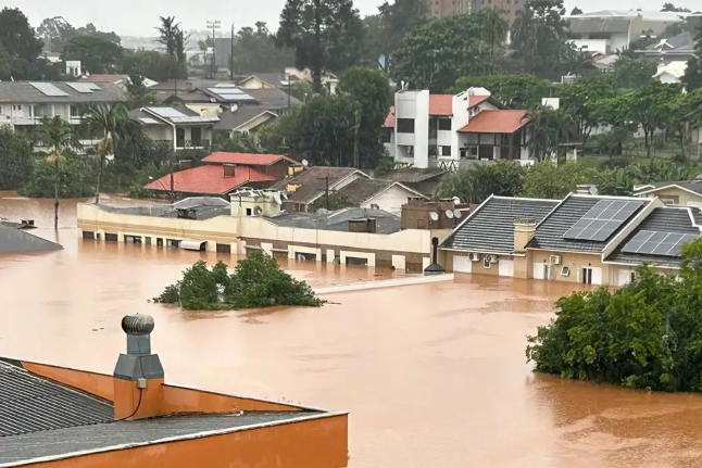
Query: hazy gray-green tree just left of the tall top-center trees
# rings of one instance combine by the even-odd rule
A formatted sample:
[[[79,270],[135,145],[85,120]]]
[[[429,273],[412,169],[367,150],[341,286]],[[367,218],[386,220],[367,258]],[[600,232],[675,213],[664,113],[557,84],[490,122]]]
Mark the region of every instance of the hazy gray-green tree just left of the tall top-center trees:
[[[238,74],[272,73],[294,62],[294,49],[277,48],[275,36],[263,22],[242,27],[236,35],[234,69]]]

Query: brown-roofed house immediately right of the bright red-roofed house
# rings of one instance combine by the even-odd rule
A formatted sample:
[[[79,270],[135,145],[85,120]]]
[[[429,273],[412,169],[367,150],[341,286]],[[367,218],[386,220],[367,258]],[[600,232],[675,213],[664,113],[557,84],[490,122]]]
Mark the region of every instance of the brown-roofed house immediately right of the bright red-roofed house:
[[[273,190],[285,191],[288,199],[284,210],[304,212],[308,206],[325,194],[333,194],[352,181],[371,176],[353,167],[309,167],[293,177],[273,185]]]

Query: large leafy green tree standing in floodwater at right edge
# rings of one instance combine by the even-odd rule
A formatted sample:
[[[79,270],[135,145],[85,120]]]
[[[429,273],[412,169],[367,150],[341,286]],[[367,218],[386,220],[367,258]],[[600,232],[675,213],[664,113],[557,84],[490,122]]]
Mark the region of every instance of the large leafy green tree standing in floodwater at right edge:
[[[679,277],[637,270],[615,292],[575,292],[529,337],[536,371],[632,389],[702,391],[702,241],[684,245]]]

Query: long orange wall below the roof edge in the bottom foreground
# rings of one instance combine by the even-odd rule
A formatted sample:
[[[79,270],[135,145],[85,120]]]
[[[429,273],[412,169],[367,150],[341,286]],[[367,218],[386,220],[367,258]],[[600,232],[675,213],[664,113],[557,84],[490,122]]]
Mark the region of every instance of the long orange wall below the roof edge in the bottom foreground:
[[[37,468],[343,468],[348,417],[259,428],[188,441],[27,465]]]

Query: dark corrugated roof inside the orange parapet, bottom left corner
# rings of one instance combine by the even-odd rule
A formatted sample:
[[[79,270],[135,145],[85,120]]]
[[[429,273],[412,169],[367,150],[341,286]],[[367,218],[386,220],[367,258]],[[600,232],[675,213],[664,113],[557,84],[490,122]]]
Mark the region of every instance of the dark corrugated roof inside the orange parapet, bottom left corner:
[[[113,414],[109,402],[0,361],[0,451],[13,435],[97,425]]]

